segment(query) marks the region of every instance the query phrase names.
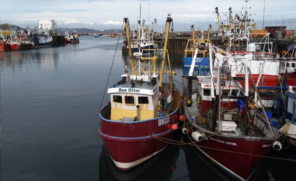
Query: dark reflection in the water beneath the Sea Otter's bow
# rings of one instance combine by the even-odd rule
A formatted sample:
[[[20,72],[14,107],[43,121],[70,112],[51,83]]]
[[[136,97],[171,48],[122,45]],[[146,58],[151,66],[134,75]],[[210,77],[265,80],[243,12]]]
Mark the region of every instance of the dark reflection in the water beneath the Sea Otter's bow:
[[[130,170],[119,170],[111,160],[105,145],[99,161],[99,180],[170,180],[176,170],[180,149],[168,145],[162,152]]]

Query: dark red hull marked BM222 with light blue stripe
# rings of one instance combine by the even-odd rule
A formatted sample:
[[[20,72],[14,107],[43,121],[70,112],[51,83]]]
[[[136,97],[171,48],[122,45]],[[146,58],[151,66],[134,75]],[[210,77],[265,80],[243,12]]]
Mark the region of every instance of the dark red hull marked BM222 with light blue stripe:
[[[178,124],[177,110],[165,117],[131,122],[111,121],[102,115],[100,114],[99,135],[113,162],[121,170],[128,170],[162,151],[168,143],[159,141],[150,134],[153,132],[155,136],[173,139],[171,125],[173,122]],[[159,126],[159,119],[163,118],[169,118],[169,121]]]

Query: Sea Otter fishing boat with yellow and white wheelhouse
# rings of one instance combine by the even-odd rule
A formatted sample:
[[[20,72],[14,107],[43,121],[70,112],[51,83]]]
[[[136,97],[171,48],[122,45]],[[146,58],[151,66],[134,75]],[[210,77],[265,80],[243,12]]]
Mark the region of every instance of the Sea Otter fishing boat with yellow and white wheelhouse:
[[[128,18],[124,18],[127,42],[130,45]],[[167,46],[172,18],[167,17],[160,71],[156,51],[151,57],[129,50],[130,69],[126,66],[122,80],[109,87],[110,101],[99,111],[99,135],[120,170],[129,170],[160,153],[168,143],[156,139],[172,139],[178,126],[180,93],[173,84]],[[136,57],[134,66],[133,56]],[[164,65],[169,65],[164,72]],[[163,82],[164,73],[170,74],[170,83]]]

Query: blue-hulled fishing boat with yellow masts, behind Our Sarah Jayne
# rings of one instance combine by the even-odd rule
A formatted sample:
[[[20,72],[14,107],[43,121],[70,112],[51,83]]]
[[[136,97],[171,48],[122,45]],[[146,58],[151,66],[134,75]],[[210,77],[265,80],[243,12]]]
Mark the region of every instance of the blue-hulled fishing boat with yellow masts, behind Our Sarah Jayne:
[[[195,31],[194,25],[191,26],[192,31],[192,39],[187,40],[186,48],[185,48],[185,55],[183,58],[183,66],[189,67],[192,64],[192,59],[195,59],[194,67],[198,69],[198,75],[203,75],[203,72],[207,73],[209,69],[209,58],[208,58],[208,43],[211,42],[210,40],[210,31],[211,25],[209,26],[207,38],[204,38],[204,31],[201,34],[200,38],[195,38]],[[206,71],[204,71],[206,70]],[[188,75],[184,73],[184,75]]]

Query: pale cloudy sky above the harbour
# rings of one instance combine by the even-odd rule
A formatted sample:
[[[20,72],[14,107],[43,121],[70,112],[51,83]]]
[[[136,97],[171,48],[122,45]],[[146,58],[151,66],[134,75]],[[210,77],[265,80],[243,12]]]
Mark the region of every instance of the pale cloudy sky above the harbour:
[[[35,25],[37,20],[55,19],[58,27],[121,28],[125,17],[129,18],[130,24],[136,24],[140,4],[141,19],[145,19],[146,23],[156,18],[161,26],[171,12],[174,31],[190,31],[191,24],[204,30],[208,24],[215,27],[215,7],[219,8],[220,16],[225,20],[224,13],[229,7],[233,8],[233,14],[240,14],[245,11],[242,7],[246,6],[244,0],[1,0],[0,23],[24,27],[25,24]],[[249,14],[253,14],[251,18],[262,27],[264,0],[250,0],[247,6],[251,7],[248,10]],[[283,16],[285,25],[295,27],[294,8],[295,0],[265,0],[265,19],[269,24],[270,19],[281,23],[275,20],[281,20]]]

